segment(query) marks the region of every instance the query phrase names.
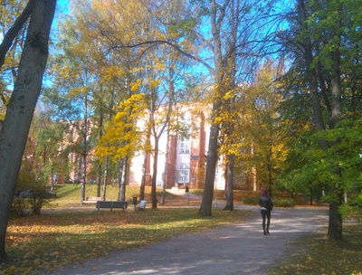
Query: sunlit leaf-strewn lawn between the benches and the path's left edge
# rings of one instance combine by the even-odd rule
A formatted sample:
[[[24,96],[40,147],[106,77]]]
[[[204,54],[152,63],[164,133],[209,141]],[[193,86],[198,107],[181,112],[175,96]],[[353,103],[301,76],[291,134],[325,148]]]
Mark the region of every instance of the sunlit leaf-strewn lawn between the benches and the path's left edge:
[[[183,233],[240,222],[245,212],[214,209],[202,217],[195,208],[146,211],[88,211],[14,218],[7,234],[7,252],[14,261],[2,264],[5,274],[54,270],[110,251],[128,250]]]

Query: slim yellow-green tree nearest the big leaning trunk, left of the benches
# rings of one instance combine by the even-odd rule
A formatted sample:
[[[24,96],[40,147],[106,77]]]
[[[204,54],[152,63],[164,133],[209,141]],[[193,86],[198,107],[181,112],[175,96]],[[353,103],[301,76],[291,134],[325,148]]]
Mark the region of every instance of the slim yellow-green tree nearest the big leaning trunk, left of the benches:
[[[62,33],[59,51],[52,62],[52,88],[48,99],[52,99],[53,108],[58,114],[53,117],[58,123],[67,126],[62,133],[68,140],[67,151],[71,153],[76,182],[81,184],[81,204],[85,200],[87,183],[87,163],[90,152],[90,119],[93,113],[93,83],[97,80],[90,48],[83,42],[80,33],[67,24],[68,33]],[[84,46],[80,45],[83,44]],[[65,148],[63,148],[65,149]]]

